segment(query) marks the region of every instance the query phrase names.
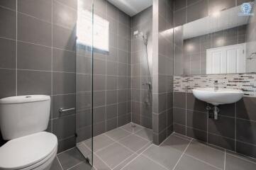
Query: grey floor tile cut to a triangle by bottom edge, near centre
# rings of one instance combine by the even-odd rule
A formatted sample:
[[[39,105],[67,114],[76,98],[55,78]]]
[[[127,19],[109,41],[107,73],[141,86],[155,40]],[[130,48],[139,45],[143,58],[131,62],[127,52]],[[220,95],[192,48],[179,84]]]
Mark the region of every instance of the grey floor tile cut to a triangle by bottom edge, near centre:
[[[140,155],[138,158],[130,162],[127,166],[123,168],[123,170],[166,170],[164,167],[152,162],[152,160]]]

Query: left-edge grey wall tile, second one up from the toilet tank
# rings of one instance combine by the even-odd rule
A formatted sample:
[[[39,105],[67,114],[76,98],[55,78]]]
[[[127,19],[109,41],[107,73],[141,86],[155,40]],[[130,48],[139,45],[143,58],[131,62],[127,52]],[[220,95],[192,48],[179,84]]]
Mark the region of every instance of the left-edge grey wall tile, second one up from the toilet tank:
[[[0,68],[16,68],[16,42],[0,38]]]

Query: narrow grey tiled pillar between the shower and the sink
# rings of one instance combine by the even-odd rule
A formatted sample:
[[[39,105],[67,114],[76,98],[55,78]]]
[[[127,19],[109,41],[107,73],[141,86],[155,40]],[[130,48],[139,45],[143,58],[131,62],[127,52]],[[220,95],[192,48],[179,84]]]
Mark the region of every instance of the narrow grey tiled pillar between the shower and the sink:
[[[173,1],[153,1],[153,142],[172,133]]]

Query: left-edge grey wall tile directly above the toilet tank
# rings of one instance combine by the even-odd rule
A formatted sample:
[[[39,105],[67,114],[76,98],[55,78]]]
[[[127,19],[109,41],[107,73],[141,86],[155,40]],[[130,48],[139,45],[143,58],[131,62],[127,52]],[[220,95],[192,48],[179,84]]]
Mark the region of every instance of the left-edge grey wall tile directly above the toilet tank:
[[[0,98],[16,96],[16,70],[0,69]]]

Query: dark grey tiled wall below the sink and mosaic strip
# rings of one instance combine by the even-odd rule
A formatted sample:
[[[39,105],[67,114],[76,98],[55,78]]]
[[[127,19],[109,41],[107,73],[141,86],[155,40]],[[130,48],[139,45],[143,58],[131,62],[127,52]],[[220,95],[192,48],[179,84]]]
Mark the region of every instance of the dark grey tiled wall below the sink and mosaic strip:
[[[192,93],[174,92],[174,132],[256,158],[256,98],[219,106],[218,120]]]

